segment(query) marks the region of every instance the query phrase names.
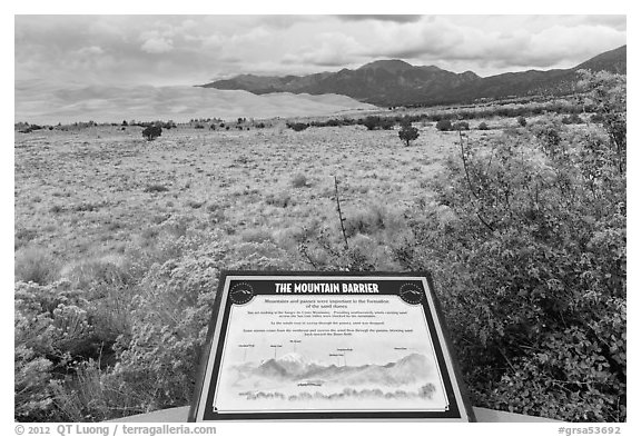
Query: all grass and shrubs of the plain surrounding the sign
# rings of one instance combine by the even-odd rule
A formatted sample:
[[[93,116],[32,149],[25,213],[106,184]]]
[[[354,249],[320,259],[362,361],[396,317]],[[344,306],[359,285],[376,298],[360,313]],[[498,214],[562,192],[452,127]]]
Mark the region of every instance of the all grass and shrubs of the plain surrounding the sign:
[[[225,268],[428,269],[474,405],[625,420],[625,82],[584,86],[596,125],[425,125],[410,147],[313,125],[19,139],[16,418],[187,405]]]

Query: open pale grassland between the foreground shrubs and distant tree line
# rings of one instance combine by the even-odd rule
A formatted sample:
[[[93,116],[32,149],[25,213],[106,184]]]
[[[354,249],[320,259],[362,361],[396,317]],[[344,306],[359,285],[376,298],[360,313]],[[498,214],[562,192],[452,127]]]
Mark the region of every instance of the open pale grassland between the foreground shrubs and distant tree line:
[[[145,245],[178,216],[292,249],[289,237],[312,221],[338,225],[335,176],[347,217],[374,203],[403,210],[428,196],[426,182],[456,151],[458,133],[417,126],[410,147],[396,130],[362,126],[178,128],[155,141],[138,127],[16,133],[16,249],[46,249],[63,270]]]

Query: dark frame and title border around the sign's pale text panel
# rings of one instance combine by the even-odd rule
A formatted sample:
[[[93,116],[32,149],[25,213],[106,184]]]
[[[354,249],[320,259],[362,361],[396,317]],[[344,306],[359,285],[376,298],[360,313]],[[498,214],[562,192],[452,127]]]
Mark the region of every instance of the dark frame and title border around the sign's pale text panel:
[[[276,286],[276,284],[290,284]],[[278,288],[279,287],[279,288]],[[404,304],[422,308],[426,322],[426,344],[431,344],[437,375],[442,383],[445,409],[428,408],[255,408],[219,410],[215,405],[224,391],[220,374],[225,365],[225,345],[233,317],[233,307],[240,308],[253,301],[273,296],[278,298],[323,297],[341,302],[346,297],[381,298],[397,296]],[[256,300],[254,300],[256,299]],[[393,299],[398,302],[398,299]],[[413,310],[416,314],[415,310]],[[238,328],[236,328],[238,329]],[[376,337],[375,335],[369,337]],[[295,341],[295,340],[293,340]],[[239,345],[243,346],[243,345]],[[254,345],[246,345],[254,346]],[[274,347],[278,345],[273,345]],[[376,345],[371,345],[376,348]],[[276,350],[275,355],[276,355]],[[272,360],[270,360],[272,361]],[[346,361],[346,359],[345,359]],[[389,362],[387,367],[392,366]],[[347,364],[345,362],[345,366]],[[381,367],[379,367],[381,368]],[[379,370],[384,371],[384,370]],[[307,384],[307,383],[306,383]],[[314,383],[308,383],[314,384]],[[300,385],[300,384],[299,384]],[[414,395],[415,396],[415,395]],[[275,403],[277,404],[277,403]],[[357,403],[356,403],[357,404]],[[420,420],[420,421],[475,421],[465,386],[453,354],[447,328],[434,292],[428,272],[348,272],[348,271],[238,271],[220,274],[218,292],[214,302],[207,340],[197,374],[197,385],[189,410],[189,421],[245,421],[245,420]]]

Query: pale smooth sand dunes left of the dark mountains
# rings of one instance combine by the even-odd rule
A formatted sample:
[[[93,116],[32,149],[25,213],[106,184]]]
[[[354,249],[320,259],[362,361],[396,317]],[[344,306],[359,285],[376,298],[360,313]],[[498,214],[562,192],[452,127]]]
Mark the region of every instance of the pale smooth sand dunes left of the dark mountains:
[[[325,116],[355,109],[374,109],[338,95],[256,96],[196,87],[51,86],[42,81],[16,81],[16,121],[62,123],[93,120],[188,121],[191,118],[236,119]]]

